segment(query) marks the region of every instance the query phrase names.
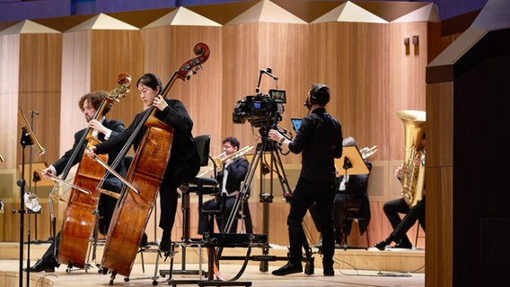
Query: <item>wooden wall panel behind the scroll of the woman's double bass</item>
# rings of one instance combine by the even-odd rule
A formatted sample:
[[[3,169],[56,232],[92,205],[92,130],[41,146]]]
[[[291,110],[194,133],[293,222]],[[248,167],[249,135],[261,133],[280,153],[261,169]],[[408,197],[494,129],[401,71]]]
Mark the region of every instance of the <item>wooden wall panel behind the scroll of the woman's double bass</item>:
[[[221,144],[222,47],[219,27],[162,26],[142,30],[145,41],[145,73],[157,74],[168,83],[180,66],[198,57],[194,48],[205,43],[209,57],[197,74],[177,79],[167,97],[182,100],[193,119],[193,135],[211,135],[211,146]],[[140,74],[141,75],[141,74]],[[215,150],[217,152],[217,149]]]

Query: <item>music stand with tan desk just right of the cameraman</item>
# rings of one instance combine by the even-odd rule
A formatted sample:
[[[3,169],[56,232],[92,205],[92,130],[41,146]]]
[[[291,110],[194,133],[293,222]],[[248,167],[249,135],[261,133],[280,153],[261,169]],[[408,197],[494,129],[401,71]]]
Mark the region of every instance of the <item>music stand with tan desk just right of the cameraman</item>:
[[[347,244],[347,206],[348,206],[348,180],[347,175],[359,175],[359,174],[367,174],[370,172],[368,167],[366,166],[365,160],[361,156],[361,153],[357,149],[356,145],[344,146],[342,157],[339,159],[335,159],[335,167],[339,170],[339,166],[344,170],[344,178],[346,178],[346,192],[345,192],[345,202],[344,202],[344,250],[349,248]]]

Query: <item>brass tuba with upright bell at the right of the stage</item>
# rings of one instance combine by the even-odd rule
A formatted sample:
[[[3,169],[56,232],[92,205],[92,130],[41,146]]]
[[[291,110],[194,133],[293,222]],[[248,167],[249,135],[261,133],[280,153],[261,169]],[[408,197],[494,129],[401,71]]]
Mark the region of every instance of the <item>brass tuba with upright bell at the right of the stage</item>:
[[[401,195],[409,207],[412,207],[422,199],[425,186],[425,152],[422,139],[425,133],[426,112],[400,110],[395,114],[404,124],[405,136],[403,173],[400,178]]]

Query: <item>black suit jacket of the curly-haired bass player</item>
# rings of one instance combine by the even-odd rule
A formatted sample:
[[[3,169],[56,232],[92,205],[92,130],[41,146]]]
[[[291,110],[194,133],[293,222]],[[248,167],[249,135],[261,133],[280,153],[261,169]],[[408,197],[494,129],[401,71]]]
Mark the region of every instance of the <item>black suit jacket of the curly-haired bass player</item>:
[[[105,118],[102,125],[111,130],[110,139],[115,137],[116,135],[119,135],[119,133],[121,133],[125,129],[124,123],[118,119]],[[73,152],[75,152],[76,149],[79,149],[79,151],[76,154],[75,159],[73,159],[73,162],[69,166],[69,168],[74,166],[76,163],[82,161],[86,143],[84,143],[80,146],[78,146],[78,145],[86,131],[87,131],[87,128],[77,131],[75,133],[75,143],[73,143],[73,148],[71,148],[69,151],[65,152],[64,155],[58,161],[53,163],[53,167],[55,167],[55,170],[57,170],[57,175],[60,175],[65,170],[67,163],[71,160],[71,158],[73,156]],[[100,133],[98,135],[98,139],[100,141],[104,141],[104,134]],[[108,154],[108,163],[110,165],[113,161],[115,161],[115,158],[117,157],[118,154],[119,154],[119,150],[112,151]],[[122,162],[119,165],[119,167],[117,168],[117,171],[121,172],[123,169],[124,169],[124,163]]]

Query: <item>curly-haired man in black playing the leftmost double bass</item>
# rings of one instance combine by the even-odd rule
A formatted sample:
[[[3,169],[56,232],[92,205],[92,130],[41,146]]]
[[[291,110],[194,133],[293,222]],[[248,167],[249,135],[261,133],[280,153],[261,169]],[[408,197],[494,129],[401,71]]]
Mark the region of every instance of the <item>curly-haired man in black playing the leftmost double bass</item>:
[[[84,113],[85,119],[87,121],[87,127],[92,128],[94,131],[92,132],[92,136],[98,138],[100,141],[108,141],[109,139],[119,135],[120,132],[124,131],[124,123],[117,119],[108,119],[106,118],[106,114],[110,111],[112,105],[108,104],[105,109],[102,111],[101,120],[93,119],[96,111],[100,108],[102,100],[108,96],[107,91],[96,91],[85,94],[79,101],[78,105],[82,112]],[[84,156],[85,144],[80,145],[80,140],[86,132],[86,128],[79,130],[75,133],[75,143],[73,144],[73,148],[66,153],[55,163],[50,165],[47,169],[42,170],[42,177],[49,178],[50,176],[58,176],[60,175],[66,168],[67,163],[71,160],[72,154],[76,149],[79,149],[79,152],[76,153],[75,159],[72,162],[74,166],[76,163],[80,162]],[[111,164],[115,158],[117,157],[119,151],[112,151],[109,153],[108,161]],[[126,170],[124,168],[124,164],[119,165],[117,171],[121,174],[125,174]],[[118,178],[113,176],[109,176],[103,183],[103,188],[106,190],[110,190],[112,192],[120,192],[120,188],[122,187],[122,183]],[[111,196],[101,194],[98,210],[100,213],[100,221],[99,221],[99,231],[101,234],[106,235],[108,232],[108,228],[110,226],[111,215],[113,213],[115,204],[117,199]],[[60,232],[58,232],[57,236],[49,246],[46,253],[40,258],[35,265],[30,267],[30,272],[54,272],[55,267],[58,267],[60,264],[57,262],[58,257],[58,249],[60,242]],[[24,271],[28,271],[27,268],[23,269]]]

